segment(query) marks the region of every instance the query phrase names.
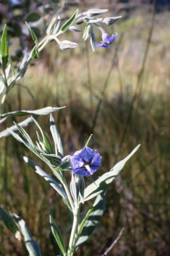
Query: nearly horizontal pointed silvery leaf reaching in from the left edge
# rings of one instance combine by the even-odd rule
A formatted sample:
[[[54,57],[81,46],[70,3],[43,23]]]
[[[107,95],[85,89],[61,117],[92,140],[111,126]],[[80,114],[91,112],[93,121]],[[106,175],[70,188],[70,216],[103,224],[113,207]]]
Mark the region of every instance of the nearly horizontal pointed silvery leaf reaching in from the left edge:
[[[48,115],[50,113],[53,113],[63,108],[64,107],[44,107],[43,109],[37,109],[37,110],[13,111],[13,112],[9,112],[1,115],[1,118],[10,117],[10,116],[19,116],[19,115],[31,115],[31,114],[32,115]]]

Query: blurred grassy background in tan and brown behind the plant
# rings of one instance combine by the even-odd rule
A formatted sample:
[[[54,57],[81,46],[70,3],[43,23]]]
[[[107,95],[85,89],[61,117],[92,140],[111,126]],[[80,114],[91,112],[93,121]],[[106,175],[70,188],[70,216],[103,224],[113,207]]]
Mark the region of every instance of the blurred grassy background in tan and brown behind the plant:
[[[57,11],[58,2],[0,1],[1,31],[7,23],[10,55],[16,63],[25,47],[33,47],[24,20],[34,23],[41,38],[46,19],[49,13]],[[36,17],[34,11],[38,7],[41,8]],[[109,35],[119,34],[111,45],[112,51],[100,48],[93,53],[90,42],[82,40],[82,33],[64,34],[62,38],[75,41],[78,47],[60,51],[56,43],[50,43],[11,91],[5,113],[65,105],[65,109],[54,114],[64,154],[81,149],[93,134],[91,147],[102,155],[102,167],[93,175],[94,180],[140,143],[137,153],[109,187],[102,221],[76,255],[102,255],[124,227],[120,240],[108,255],[168,256],[170,1],[68,1],[64,15],[69,17],[77,7],[79,13],[104,8],[109,10],[104,14],[107,17],[122,15],[114,25],[106,27]],[[101,41],[100,31],[96,31],[96,41]],[[22,120],[9,117],[0,131],[13,125],[13,121]],[[51,139],[49,117],[39,117],[38,121]],[[37,127],[31,124],[26,130],[36,141]],[[6,211],[9,207],[25,219],[31,235],[41,246],[42,256],[56,255],[51,245],[54,241],[46,205],[65,237],[69,230],[64,227],[70,225],[70,219],[60,197],[23,163],[21,155],[27,155],[44,171],[52,173],[11,136],[1,138],[0,149],[1,207]],[[89,205],[85,207],[88,209]],[[25,255],[21,243],[1,220],[0,255]]]

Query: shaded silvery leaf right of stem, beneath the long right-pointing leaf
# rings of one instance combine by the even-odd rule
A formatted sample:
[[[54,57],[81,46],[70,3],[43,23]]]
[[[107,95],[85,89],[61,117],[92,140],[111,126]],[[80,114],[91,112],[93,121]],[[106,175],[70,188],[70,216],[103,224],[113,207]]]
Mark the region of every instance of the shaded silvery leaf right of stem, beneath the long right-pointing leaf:
[[[102,215],[104,213],[106,201],[106,191],[102,192],[96,197],[92,208],[88,211],[86,216],[82,219],[80,227],[78,229],[78,240],[76,241],[76,249],[82,245],[90,235],[92,235],[94,229],[98,225]]]

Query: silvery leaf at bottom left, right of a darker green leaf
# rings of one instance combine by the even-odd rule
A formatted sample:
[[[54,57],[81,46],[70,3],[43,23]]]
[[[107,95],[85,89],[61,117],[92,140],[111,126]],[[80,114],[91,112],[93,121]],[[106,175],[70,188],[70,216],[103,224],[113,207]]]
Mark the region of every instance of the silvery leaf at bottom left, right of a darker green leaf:
[[[17,214],[12,213],[15,221],[19,225],[19,229],[24,236],[25,245],[29,251],[29,256],[41,256],[41,249],[39,244],[31,237],[27,225],[23,219],[21,219]]]

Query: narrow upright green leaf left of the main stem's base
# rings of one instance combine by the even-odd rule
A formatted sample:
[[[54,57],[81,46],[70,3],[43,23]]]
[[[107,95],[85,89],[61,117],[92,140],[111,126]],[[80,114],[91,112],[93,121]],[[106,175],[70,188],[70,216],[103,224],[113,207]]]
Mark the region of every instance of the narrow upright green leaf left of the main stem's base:
[[[50,209],[48,208],[48,211],[50,213]],[[56,242],[58,243],[58,246],[60,247],[60,250],[62,251],[63,255],[66,255],[66,247],[64,245],[64,240],[62,238],[62,234],[60,233],[60,229],[56,226],[56,223],[54,223],[54,219],[52,218],[52,215],[50,213],[50,228],[52,230],[52,234],[54,235]]]

